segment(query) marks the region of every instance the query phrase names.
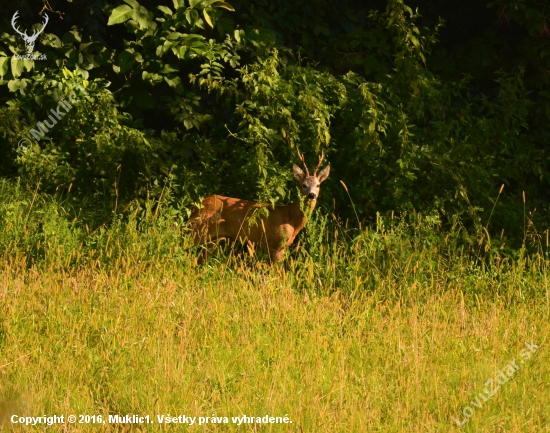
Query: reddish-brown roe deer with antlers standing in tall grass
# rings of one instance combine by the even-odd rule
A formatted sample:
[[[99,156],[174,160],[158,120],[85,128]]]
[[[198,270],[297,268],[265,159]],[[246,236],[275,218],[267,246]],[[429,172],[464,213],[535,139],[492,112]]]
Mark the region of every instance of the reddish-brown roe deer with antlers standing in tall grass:
[[[310,176],[304,156],[298,151],[305,173],[296,164],[292,167],[294,179],[300,184],[300,193],[304,197],[306,212],[311,213],[319,196],[319,186],[330,173],[330,165],[319,174],[324,152],[313,175]],[[261,212],[267,209],[267,215]],[[259,220],[259,221],[258,221]],[[283,259],[285,250],[294,242],[307,222],[307,215],[300,207],[300,198],[290,205],[255,203],[240,198],[211,195],[195,206],[191,212],[190,225],[195,244],[206,243],[210,247],[214,240],[230,238],[241,242],[259,245],[269,254],[271,262]],[[208,247],[203,253],[207,257]]]

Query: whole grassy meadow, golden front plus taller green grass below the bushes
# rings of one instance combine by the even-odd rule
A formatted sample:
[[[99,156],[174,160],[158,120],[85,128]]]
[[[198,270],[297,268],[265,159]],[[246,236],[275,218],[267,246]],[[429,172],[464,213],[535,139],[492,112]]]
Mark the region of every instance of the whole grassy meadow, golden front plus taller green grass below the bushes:
[[[78,212],[0,181],[4,431],[55,414],[153,422],[48,431],[550,430],[545,234],[507,252],[433,215],[357,229],[316,212],[280,266],[234,246],[197,265],[183,211]]]

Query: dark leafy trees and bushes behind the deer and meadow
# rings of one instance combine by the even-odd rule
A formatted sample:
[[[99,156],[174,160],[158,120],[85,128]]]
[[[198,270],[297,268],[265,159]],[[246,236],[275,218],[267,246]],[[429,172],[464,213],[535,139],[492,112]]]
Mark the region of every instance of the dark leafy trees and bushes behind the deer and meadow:
[[[2,2],[0,176],[98,202],[167,185],[183,203],[288,202],[298,146],[310,165],[327,155],[321,205],[342,220],[357,223],[351,198],[366,222],[394,211],[479,226],[494,208],[490,230],[512,243],[525,215],[547,227],[544,1],[161,3]],[[47,60],[15,60],[13,13],[38,29],[44,7]],[[78,85],[82,102],[21,146]]]

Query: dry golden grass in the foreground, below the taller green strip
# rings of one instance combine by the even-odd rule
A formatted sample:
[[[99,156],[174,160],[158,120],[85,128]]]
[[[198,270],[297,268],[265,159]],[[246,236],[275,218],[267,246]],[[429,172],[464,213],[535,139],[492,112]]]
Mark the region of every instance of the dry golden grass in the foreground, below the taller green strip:
[[[443,275],[412,282],[388,275],[374,290],[323,293],[306,289],[308,274],[300,281],[289,268],[128,260],[63,271],[4,260],[3,428],[45,430],[11,423],[15,413],[155,421],[49,429],[75,432],[550,429],[545,290],[510,302],[468,294],[463,281]],[[499,290],[521,291],[529,281],[508,278]],[[459,427],[452,417],[464,419],[486,381],[531,341],[540,346],[531,359]],[[229,423],[161,425],[162,414],[215,414]],[[292,424],[231,423],[243,414],[288,414]]]

